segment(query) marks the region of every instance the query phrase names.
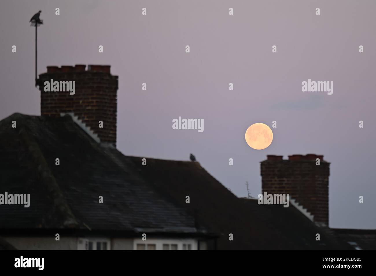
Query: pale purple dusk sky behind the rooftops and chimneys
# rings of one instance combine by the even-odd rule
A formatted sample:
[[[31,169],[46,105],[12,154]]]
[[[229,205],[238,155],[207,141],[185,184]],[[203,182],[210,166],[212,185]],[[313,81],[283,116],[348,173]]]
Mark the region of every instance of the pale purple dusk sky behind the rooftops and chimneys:
[[[237,196],[246,181],[261,193],[266,155],[322,154],[331,162],[329,226],[376,228],[375,1],[2,0],[0,120],[40,115],[29,24],[39,9],[38,74],[108,64],[119,76],[124,154],[188,160],[192,152]],[[309,78],[333,81],[334,93],[302,92]],[[173,130],[179,116],[204,119],[204,131]],[[251,149],[247,127],[273,120],[271,146]]]

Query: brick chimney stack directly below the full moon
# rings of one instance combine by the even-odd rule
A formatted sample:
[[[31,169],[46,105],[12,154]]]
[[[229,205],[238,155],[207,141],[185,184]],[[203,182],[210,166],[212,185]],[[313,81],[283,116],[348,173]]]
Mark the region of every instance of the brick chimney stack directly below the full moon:
[[[320,165],[316,165],[316,158]],[[314,215],[314,221],[329,223],[329,162],[323,155],[268,155],[261,162],[262,193],[290,194],[290,199]]]

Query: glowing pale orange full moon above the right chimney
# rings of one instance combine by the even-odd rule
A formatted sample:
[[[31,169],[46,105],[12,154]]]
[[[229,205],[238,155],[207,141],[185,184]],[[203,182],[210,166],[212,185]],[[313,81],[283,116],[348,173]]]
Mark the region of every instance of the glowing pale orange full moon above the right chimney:
[[[255,123],[246,131],[246,142],[255,150],[263,150],[270,146],[273,141],[273,132],[270,127],[263,123]]]

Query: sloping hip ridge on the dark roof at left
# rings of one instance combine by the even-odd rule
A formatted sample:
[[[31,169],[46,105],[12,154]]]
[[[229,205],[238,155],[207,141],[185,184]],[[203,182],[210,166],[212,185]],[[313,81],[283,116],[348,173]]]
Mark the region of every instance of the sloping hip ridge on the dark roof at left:
[[[46,190],[49,192],[49,195],[53,200],[53,205],[55,206],[56,211],[63,217],[64,226],[78,226],[78,222],[74,217],[68,203],[65,201],[59,184],[56,182],[56,179],[53,176],[38,143],[36,143],[36,141],[34,141],[33,138],[28,135],[25,127],[21,127],[18,133],[20,134],[20,138],[24,141],[24,143],[26,143],[27,149],[31,153],[32,158],[35,160],[35,163],[38,165],[37,171],[41,177],[41,183],[47,188]]]

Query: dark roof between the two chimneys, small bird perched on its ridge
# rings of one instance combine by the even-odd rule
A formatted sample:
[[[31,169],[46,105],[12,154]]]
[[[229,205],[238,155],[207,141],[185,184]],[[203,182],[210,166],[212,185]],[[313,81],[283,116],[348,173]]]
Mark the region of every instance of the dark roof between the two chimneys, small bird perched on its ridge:
[[[350,249],[326,227],[317,227],[293,205],[259,205],[256,199],[239,199],[198,162],[119,156],[132,160],[149,182],[176,205],[185,207],[197,223],[218,232],[218,249],[326,250]],[[190,196],[190,203],[185,197]],[[233,241],[229,240],[233,234]],[[316,240],[320,234],[320,241]]]

